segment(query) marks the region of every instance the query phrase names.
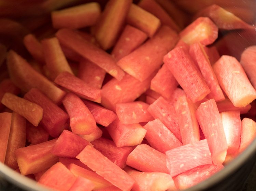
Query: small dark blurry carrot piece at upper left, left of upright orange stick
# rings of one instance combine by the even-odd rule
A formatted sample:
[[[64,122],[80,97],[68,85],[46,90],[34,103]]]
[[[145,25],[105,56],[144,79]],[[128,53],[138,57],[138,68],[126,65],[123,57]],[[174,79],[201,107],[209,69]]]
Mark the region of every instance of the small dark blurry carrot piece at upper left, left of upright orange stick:
[[[40,64],[45,63],[42,45],[33,34],[26,35],[23,38],[23,43],[33,58],[37,60],[37,62]]]

